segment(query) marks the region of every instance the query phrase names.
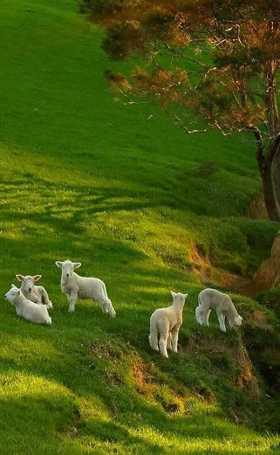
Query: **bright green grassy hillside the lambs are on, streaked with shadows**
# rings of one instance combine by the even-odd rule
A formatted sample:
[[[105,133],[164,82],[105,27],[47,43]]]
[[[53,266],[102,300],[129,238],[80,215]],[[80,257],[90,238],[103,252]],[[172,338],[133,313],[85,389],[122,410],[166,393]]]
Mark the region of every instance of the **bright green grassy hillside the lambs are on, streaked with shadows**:
[[[244,334],[253,344],[267,333],[250,322],[254,304],[235,299],[246,316],[237,333],[194,318],[194,244],[250,275],[279,229],[244,217],[260,190],[251,142],[186,137],[156,106],[113,104],[102,32],[76,9],[0,4],[1,295],[16,273],[41,273],[55,306],[41,327],[1,298],[0,451],[277,453],[276,391],[246,374]],[[54,264],[66,258],[104,279],[116,319],[87,301],[67,312]],[[164,360],[149,349],[148,320],[170,289],[189,298],[181,353]]]

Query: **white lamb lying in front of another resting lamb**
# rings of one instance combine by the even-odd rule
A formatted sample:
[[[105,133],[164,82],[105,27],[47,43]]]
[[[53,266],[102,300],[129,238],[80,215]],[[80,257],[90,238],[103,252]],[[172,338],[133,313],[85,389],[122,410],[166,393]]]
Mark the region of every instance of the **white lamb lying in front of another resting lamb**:
[[[15,310],[18,316],[27,319],[27,321],[35,322],[38,324],[51,324],[52,320],[48,315],[48,309],[45,305],[37,304],[27,300],[22,294],[22,291],[18,289],[14,284],[4,295],[6,300],[11,304],[15,305]]]

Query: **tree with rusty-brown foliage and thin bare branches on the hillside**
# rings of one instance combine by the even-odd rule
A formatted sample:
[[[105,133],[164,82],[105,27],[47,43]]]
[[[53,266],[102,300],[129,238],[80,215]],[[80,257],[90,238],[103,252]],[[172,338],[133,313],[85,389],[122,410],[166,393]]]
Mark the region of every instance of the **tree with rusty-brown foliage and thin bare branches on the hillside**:
[[[83,0],[81,12],[106,27],[111,57],[146,57],[128,79],[107,74],[121,92],[153,94],[188,133],[253,134],[267,213],[280,221],[280,1]],[[190,109],[207,127],[188,126]]]

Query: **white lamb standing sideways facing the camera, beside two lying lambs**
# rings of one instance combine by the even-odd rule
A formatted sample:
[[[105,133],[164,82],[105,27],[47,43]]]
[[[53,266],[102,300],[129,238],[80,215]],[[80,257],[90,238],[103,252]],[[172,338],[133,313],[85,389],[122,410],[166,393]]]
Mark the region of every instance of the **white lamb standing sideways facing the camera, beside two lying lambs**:
[[[61,289],[68,297],[70,313],[73,313],[75,302],[80,297],[80,299],[92,299],[99,302],[103,313],[109,313],[112,318],[116,316],[116,311],[107,295],[105,283],[101,279],[86,278],[76,274],[74,269],[81,266],[80,262],[57,260],[55,264],[62,269]]]

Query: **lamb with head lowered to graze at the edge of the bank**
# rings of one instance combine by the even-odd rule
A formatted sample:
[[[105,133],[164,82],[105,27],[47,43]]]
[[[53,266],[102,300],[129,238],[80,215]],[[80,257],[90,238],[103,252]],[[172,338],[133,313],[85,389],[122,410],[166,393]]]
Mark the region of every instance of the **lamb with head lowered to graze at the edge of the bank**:
[[[195,309],[195,317],[200,325],[209,327],[211,309],[216,309],[222,332],[226,331],[225,316],[227,316],[230,327],[234,329],[237,329],[243,321],[243,318],[237,313],[230,296],[221,293],[219,290],[210,288],[202,290],[198,295],[198,304],[199,306]]]

